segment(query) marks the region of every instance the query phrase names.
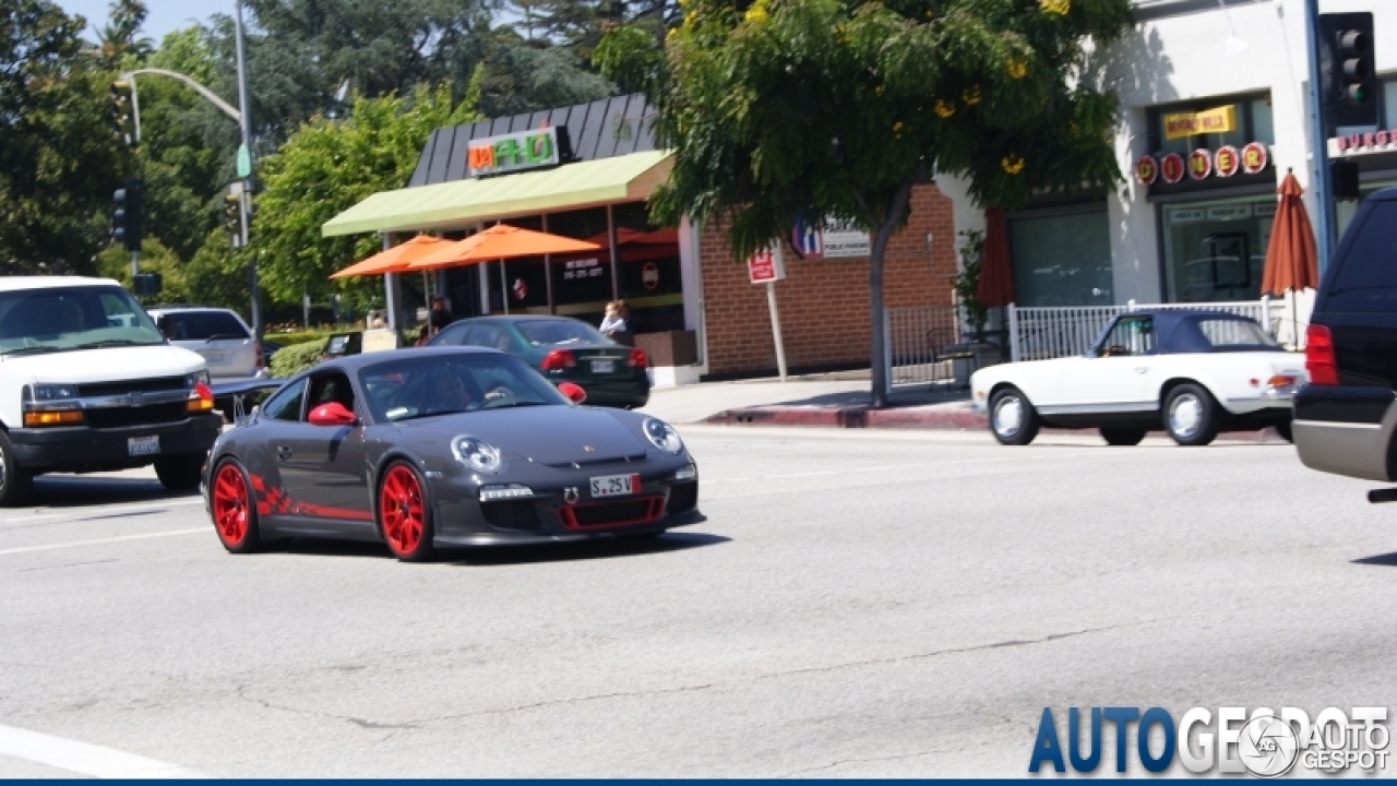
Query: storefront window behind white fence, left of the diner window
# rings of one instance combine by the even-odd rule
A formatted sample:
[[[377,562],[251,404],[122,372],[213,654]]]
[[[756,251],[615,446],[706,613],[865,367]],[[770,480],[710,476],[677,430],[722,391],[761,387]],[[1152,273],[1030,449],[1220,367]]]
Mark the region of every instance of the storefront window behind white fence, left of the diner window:
[[[1111,225],[1105,210],[1009,222],[1020,306],[1111,305]]]

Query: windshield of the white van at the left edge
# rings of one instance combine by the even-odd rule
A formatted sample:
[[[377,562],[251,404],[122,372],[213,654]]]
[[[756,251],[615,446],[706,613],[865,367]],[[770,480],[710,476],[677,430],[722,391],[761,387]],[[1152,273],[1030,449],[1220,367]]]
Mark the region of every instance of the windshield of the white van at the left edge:
[[[0,355],[163,343],[151,317],[120,287],[0,292]]]

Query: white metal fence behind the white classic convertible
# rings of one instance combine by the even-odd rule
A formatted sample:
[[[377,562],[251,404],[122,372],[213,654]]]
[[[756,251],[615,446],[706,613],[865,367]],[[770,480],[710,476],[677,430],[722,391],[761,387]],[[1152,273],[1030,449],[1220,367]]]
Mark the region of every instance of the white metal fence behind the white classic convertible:
[[[1129,310],[1221,310],[1249,316],[1282,344],[1299,347],[1303,323],[1291,301],[1235,301],[1217,303],[1136,303],[1115,306],[1006,308],[1009,352],[1013,361],[1044,361],[1085,352],[1118,313]]]

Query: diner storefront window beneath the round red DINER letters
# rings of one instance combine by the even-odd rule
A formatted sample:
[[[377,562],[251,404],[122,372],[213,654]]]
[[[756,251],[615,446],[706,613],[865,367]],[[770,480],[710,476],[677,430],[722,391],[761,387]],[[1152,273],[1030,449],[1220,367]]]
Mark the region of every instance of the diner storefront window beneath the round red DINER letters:
[[[1164,206],[1169,301],[1259,298],[1274,217],[1275,197],[1270,194]]]

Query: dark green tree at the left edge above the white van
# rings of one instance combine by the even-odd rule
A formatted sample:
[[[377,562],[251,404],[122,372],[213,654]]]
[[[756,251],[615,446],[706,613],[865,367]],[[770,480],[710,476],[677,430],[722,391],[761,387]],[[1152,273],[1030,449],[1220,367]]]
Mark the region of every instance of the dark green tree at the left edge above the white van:
[[[47,0],[0,15],[0,273],[89,273],[109,239],[129,152],[85,25]]]

